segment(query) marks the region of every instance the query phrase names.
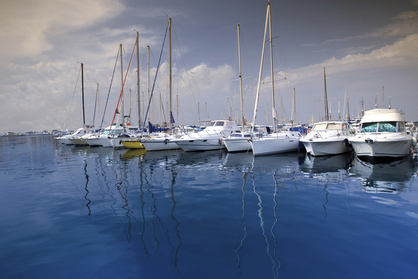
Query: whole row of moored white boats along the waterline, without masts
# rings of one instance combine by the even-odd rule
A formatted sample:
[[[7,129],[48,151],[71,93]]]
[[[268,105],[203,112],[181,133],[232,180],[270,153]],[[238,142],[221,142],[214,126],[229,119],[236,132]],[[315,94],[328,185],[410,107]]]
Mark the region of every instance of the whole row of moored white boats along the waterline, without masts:
[[[104,146],[113,148],[161,151],[208,151],[227,149],[229,152],[252,152],[254,156],[301,151],[311,156],[331,156],[354,151],[364,158],[403,158],[417,150],[417,136],[405,126],[400,110],[374,109],[366,111],[360,125],[353,128],[349,121],[314,123],[302,135],[294,129],[268,133],[265,128],[251,127],[242,131],[235,121],[211,121],[206,128],[173,128],[157,133],[138,133],[138,127],[121,124],[109,126],[100,133],[93,128],[80,128],[72,135],[56,137],[63,144]]]

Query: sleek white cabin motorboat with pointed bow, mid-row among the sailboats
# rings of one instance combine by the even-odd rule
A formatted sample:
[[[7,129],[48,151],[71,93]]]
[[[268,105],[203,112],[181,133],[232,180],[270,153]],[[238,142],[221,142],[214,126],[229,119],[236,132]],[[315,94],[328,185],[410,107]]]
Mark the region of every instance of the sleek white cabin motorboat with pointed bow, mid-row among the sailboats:
[[[239,132],[240,128],[235,121],[217,120],[211,121],[205,130],[183,135],[170,142],[175,142],[184,151],[223,149],[225,145],[222,138]]]

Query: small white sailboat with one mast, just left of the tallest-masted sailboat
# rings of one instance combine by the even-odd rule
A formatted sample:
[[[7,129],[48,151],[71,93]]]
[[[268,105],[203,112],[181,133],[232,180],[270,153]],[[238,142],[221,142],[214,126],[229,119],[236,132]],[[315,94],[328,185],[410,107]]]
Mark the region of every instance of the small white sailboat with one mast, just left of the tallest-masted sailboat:
[[[224,144],[228,152],[250,151],[252,149],[249,142],[250,133],[245,131],[244,105],[242,100],[242,75],[241,75],[241,47],[240,47],[240,24],[238,24],[238,61],[240,68],[240,97],[241,97],[241,131],[240,133],[232,133],[224,138]]]

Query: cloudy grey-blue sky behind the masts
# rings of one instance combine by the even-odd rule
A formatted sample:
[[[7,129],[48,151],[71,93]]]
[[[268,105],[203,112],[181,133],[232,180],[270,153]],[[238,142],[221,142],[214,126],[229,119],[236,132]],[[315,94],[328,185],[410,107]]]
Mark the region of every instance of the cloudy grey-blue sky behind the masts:
[[[0,133],[81,127],[81,63],[87,125],[111,123],[121,76],[132,125],[142,125],[148,103],[147,120],[167,121],[169,17],[176,124],[240,119],[239,61],[243,113],[251,122],[267,7],[268,0],[3,0]],[[272,0],[271,10],[274,106],[282,121],[323,120],[325,80],[332,119],[360,116],[362,104],[365,110],[390,104],[407,121],[418,121],[418,0]],[[272,123],[270,60],[267,44],[256,117],[261,125]]]

